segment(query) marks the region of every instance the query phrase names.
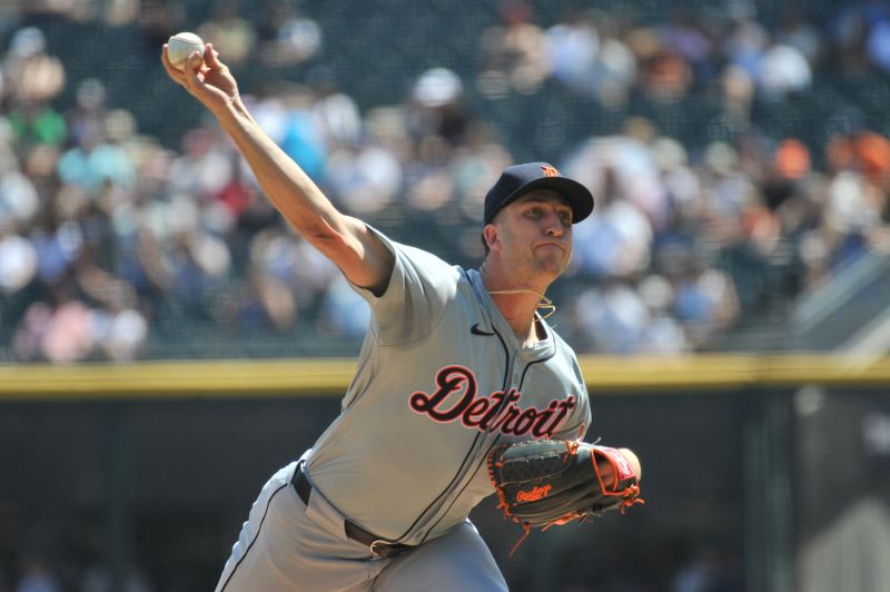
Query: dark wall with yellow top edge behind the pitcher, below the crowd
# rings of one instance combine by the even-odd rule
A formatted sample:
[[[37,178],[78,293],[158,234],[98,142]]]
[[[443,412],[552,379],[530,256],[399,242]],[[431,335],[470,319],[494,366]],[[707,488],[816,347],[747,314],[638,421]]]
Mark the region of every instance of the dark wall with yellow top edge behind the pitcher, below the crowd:
[[[116,582],[111,590],[128,580],[211,588],[263,483],[338,413],[352,363],[319,361],[300,376],[307,364],[0,373],[0,467],[13,477],[0,480],[3,569],[42,565],[65,590],[87,589],[92,572]],[[831,590],[819,586],[839,573],[858,578],[856,590],[881,590],[887,361],[593,357],[583,366],[594,397],[587,440],[640,454],[646,503],[535,532],[510,558],[522,531],[483,502],[473,520],[511,590],[678,592],[698,581],[807,592]],[[851,532],[869,544],[851,547]]]

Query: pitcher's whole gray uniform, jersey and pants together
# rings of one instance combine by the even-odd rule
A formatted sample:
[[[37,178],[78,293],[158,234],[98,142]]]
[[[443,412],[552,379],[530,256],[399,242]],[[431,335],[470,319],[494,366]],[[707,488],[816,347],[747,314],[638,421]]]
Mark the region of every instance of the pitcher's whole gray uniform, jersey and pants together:
[[[217,592],[505,591],[467,520],[494,492],[487,454],[590,424],[575,355],[543,320],[546,338],[522,347],[477,272],[380,239],[395,266],[382,296],[356,288],[373,320],[343,411],[263,487]],[[417,546],[375,555],[346,521]]]

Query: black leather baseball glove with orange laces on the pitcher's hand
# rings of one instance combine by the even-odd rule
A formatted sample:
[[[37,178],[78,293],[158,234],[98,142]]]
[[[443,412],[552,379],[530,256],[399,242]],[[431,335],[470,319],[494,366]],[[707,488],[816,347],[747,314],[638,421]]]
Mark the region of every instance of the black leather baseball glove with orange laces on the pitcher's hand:
[[[525,535],[533,527],[546,530],[610,510],[623,514],[643,503],[636,457],[630,462],[619,450],[585,442],[535,440],[501,446],[488,457],[488,474],[498,509]]]

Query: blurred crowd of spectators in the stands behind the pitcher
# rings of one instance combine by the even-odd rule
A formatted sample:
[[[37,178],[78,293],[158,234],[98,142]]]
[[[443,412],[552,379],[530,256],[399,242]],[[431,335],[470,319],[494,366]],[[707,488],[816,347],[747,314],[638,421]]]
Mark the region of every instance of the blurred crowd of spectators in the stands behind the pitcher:
[[[482,257],[487,187],[528,151],[482,114],[517,96],[555,114],[620,114],[607,134],[563,120],[555,140],[546,119],[520,121],[530,142],[573,138],[534,157],[596,198],[551,294],[581,353],[721,348],[862,253],[890,251],[890,124],[876,111],[890,98],[886,1],[764,22],[744,2],[545,21],[506,0],[485,12],[475,61],[398,72],[409,90],[389,105],[342,90],[326,68],[338,33],[305,4],[215,2],[195,22],[171,0],[0,9],[2,359],[349,354],[368,314],[211,121],[164,145],[109,101],[109,80],[53,53],[48,18],[58,30],[141,16],[160,41],[191,28],[245,80],[315,67],[243,86],[257,120],[337,207],[464,265]],[[176,101],[158,108],[192,99]],[[800,137],[784,134],[788,118]]]

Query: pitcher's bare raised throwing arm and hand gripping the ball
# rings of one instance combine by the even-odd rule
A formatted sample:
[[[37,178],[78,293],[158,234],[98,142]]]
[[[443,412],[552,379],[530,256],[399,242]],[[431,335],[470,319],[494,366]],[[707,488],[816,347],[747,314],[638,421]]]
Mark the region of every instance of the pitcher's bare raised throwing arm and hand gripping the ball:
[[[201,63],[204,58],[204,63]],[[358,286],[383,293],[393,272],[393,254],[362,220],[338,211],[304,170],[281,150],[247,111],[229,68],[211,43],[192,53],[184,70],[161,62],[219,121],[247,160],[263,191],[304,238]]]

